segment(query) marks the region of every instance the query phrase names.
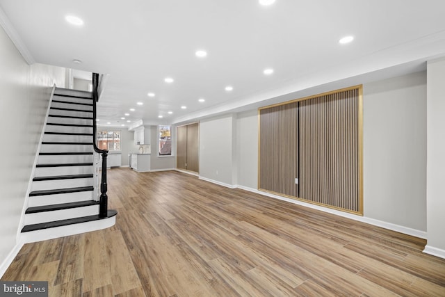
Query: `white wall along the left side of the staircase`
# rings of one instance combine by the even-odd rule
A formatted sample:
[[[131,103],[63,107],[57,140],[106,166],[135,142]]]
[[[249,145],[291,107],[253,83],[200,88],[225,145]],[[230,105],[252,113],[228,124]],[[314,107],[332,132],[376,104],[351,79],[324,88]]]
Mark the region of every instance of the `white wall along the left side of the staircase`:
[[[65,87],[65,68],[27,65],[0,27],[0,271],[17,230],[51,88]]]

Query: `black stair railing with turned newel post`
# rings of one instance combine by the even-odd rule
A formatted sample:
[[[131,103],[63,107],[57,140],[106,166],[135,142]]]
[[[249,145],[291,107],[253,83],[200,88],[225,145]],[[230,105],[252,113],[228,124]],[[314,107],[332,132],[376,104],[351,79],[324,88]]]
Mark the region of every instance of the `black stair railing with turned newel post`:
[[[108,191],[108,186],[106,183],[106,157],[108,156],[108,150],[101,150],[97,147],[97,112],[96,105],[99,100],[99,96],[97,93],[97,89],[99,88],[99,74],[92,74],[92,145],[94,147],[95,152],[102,154],[102,177],[100,184],[100,198],[99,198],[99,216],[101,218],[105,218],[107,216],[108,210],[108,195],[106,195],[106,191]]]

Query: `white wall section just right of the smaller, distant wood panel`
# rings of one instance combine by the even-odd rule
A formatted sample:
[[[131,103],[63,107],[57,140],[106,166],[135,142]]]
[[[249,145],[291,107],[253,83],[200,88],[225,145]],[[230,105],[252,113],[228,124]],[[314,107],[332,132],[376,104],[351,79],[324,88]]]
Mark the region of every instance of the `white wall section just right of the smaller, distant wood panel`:
[[[232,114],[200,122],[200,177],[236,185],[234,125],[236,118]]]

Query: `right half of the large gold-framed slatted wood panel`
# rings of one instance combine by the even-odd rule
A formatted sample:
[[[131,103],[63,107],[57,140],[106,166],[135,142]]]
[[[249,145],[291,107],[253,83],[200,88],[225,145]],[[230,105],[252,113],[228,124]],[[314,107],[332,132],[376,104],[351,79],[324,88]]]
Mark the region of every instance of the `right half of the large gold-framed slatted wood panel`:
[[[359,212],[358,89],[300,102],[300,198]]]

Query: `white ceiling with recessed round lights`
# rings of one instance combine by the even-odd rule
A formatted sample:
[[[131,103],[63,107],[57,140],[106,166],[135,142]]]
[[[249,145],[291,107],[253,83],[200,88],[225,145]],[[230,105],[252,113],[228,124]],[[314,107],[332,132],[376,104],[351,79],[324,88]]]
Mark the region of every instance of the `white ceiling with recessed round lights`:
[[[445,55],[444,0],[0,0],[0,8],[29,60],[108,74],[98,116],[112,125],[251,109],[423,70]],[[346,35],[355,40],[340,45]],[[275,72],[264,75],[267,67]]]

